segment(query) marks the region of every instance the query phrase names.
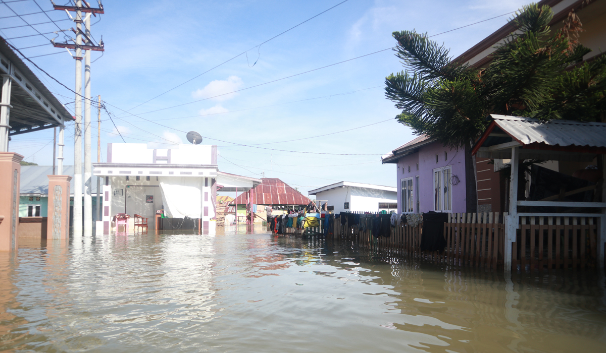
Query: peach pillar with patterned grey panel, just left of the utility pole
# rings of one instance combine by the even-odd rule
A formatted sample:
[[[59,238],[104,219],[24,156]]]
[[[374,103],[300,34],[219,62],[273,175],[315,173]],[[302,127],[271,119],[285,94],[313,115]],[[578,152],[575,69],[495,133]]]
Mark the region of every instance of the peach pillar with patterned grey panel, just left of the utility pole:
[[[47,239],[68,239],[70,236],[70,180],[67,175],[48,176]]]

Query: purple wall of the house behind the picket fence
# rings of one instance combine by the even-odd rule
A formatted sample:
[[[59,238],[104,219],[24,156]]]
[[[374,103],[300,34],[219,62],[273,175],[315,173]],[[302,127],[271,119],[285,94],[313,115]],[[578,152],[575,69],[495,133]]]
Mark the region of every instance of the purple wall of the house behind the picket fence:
[[[444,152],[448,153],[448,160],[444,160]],[[436,163],[438,154],[438,163]],[[416,170],[419,163],[419,170]],[[451,185],[452,212],[464,213],[465,207],[465,153],[463,150],[450,150],[440,142],[419,147],[418,153],[409,154],[398,160],[396,167],[396,185],[398,185],[398,213],[402,212],[402,183],[401,180],[408,177],[419,176],[419,211],[425,213],[433,211],[433,170],[441,167],[451,166],[453,176],[459,177],[457,185]],[[410,173],[408,172],[410,166]],[[413,179],[414,180],[414,179]],[[416,187],[416,185],[415,185]],[[416,191],[415,191],[416,194]],[[416,207],[416,199],[415,199]]]

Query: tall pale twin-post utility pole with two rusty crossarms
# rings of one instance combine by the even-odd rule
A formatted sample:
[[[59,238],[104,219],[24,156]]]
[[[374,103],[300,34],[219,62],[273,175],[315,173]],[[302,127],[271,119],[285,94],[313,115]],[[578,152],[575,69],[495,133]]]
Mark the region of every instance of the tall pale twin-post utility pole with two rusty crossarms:
[[[84,226],[85,234],[92,234],[93,231],[93,203],[91,194],[91,160],[90,160],[90,51],[104,51],[103,41],[99,42],[99,45],[95,45],[92,36],[90,35],[90,16],[96,16],[97,13],[104,13],[103,6],[99,2],[99,8],[92,8],[88,2],[84,1],[82,6],[82,0],[76,0],[75,6],[67,5],[56,5],[53,2],[55,10],[69,12],[75,12],[76,18],[72,18],[76,22],[76,29],[72,28],[72,31],[76,35],[76,39],[70,42],[55,42],[51,40],[52,44],[58,48],[74,49],[76,51],[73,58],[76,59],[76,103],[75,103],[75,126],[74,126],[74,208],[73,208],[73,234],[74,236],[82,236],[82,228]],[[87,18],[82,21],[82,13],[87,13]],[[70,18],[72,16],[70,15]],[[82,31],[82,23],[85,24],[85,31]],[[82,37],[85,38],[85,44],[82,44]],[[82,96],[82,50],[85,50],[85,92]],[[85,111],[84,111],[84,180],[82,180],[82,99],[84,99]],[[59,144],[63,144],[63,131],[59,130]],[[62,161],[59,166],[62,172]],[[84,181],[84,222],[82,219],[82,182]]]

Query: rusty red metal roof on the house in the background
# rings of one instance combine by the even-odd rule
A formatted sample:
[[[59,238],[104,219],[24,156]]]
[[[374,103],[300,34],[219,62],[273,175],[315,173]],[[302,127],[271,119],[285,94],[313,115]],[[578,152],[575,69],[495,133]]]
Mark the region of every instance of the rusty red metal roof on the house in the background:
[[[262,183],[250,191],[250,202],[254,205],[308,205],[311,200],[303,196],[287,183],[278,178],[262,178]],[[241,194],[232,201],[235,203],[247,203],[247,194]]]

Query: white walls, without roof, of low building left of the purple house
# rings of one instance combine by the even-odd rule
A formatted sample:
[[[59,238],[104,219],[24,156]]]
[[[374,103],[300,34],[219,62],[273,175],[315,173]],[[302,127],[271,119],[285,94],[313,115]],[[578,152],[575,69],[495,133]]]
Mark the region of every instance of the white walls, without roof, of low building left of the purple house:
[[[340,212],[378,212],[379,202],[397,202],[398,193],[394,191],[377,190],[345,186],[316,194],[316,200],[328,200],[328,206],[334,206],[334,213]],[[349,208],[345,209],[345,202]],[[322,202],[323,203],[323,202]]]

